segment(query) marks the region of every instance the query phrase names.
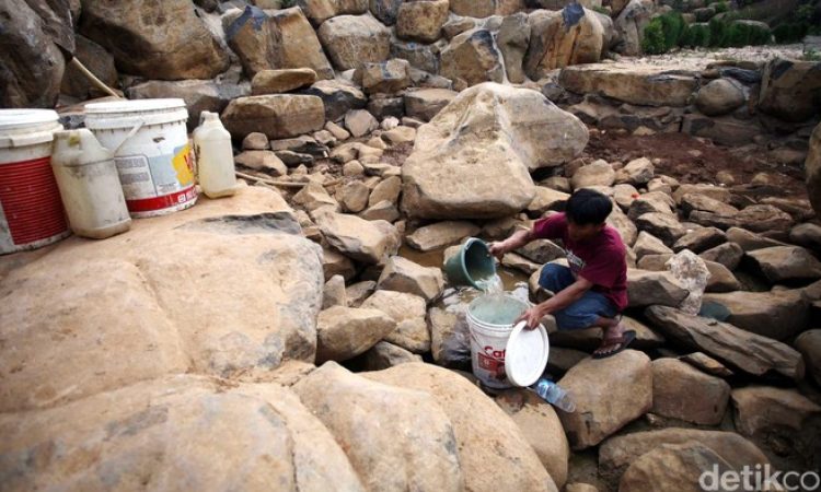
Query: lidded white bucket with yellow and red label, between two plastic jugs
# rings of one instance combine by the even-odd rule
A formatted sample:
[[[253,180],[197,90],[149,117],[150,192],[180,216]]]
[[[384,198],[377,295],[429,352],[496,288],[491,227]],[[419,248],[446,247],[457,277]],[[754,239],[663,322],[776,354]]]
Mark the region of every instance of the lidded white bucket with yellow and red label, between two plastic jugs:
[[[114,151],[134,218],[164,215],[197,201],[183,99],[138,99],[85,106],[85,126]]]

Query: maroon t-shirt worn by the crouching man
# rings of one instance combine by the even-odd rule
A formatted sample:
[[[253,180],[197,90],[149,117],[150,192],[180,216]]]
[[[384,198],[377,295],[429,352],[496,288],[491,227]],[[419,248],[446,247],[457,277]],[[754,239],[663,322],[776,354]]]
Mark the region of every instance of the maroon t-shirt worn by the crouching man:
[[[618,312],[627,307],[627,247],[615,229],[605,225],[595,237],[576,243],[567,233],[567,218],[564,213],[556,213],[537,220],[532,235],[534,238],[562,239],[574,276],[592,282],[592,290],[604,294]]]

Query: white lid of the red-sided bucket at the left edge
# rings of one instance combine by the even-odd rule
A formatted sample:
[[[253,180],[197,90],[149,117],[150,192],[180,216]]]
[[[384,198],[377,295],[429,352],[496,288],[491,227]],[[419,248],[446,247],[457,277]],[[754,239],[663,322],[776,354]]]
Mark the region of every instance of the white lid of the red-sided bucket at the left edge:
[[[50,142],[61,130],[53,109],[0,109],[0,149]]]

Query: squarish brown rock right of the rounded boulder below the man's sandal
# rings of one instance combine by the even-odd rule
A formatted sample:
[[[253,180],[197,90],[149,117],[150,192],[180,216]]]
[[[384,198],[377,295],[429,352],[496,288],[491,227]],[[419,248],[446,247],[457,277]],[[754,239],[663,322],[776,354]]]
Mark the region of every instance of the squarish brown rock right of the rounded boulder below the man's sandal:
[[[730,385],[724,379],[677,359],[657,359],[651,364],[654,413],[703,425],[721,422],[730,399]]]

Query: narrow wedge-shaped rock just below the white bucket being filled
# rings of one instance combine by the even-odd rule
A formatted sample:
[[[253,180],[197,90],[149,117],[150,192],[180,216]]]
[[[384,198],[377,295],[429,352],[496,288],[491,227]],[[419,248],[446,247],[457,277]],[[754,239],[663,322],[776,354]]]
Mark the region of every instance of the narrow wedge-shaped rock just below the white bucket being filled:
[[[556,487],[562,488],[567,481],[570,447],[553,407],[522,389],[505,391],[496,403],[519,425]]]

